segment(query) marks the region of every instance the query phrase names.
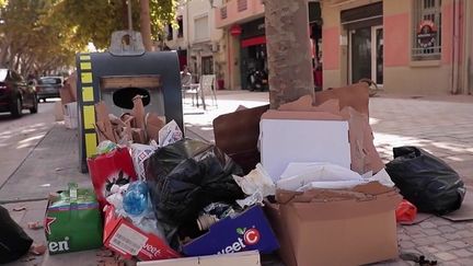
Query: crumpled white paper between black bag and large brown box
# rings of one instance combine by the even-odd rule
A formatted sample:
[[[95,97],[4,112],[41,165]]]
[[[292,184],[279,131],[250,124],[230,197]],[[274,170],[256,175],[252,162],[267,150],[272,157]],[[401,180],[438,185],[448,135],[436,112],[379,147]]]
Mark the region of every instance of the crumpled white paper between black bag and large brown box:
[[[276,194],[276,186],[261,163],[256,164],[256,169],[243,177],[233,175],[233,180],[244,194],[250,195],[244,199],[236,200],[236,204],[242,208],[262,204],[265,197]]]

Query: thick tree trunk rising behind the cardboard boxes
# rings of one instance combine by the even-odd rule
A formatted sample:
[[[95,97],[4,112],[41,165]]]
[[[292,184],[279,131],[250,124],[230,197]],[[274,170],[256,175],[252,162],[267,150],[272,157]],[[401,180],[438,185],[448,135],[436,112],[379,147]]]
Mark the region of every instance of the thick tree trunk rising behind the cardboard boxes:
[[[265,1],[272,108],[314,95],[307,0]]]

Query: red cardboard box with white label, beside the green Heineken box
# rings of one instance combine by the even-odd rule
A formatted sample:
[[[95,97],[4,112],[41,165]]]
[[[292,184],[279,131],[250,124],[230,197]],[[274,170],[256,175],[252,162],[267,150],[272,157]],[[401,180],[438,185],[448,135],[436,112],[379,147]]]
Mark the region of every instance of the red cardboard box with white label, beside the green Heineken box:
[[[180,254],[154,234],[146,233],[130,221],[117,217],[115,208],[107,206],[103,243],[125,258],[138,257],[141,261],[177,258]]]

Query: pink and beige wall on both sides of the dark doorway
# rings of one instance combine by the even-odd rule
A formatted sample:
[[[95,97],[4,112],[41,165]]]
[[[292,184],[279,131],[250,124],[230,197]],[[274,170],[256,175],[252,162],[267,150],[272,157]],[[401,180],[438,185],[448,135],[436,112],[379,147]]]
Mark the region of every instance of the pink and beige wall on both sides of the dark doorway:
[[[466,0],[468,1],[468,0]],[[348,83],[347,31],[339,21],[342,10],[377,1],[359,0],[344,4],[322,1],[324,89]],[[442,55],[440,60],[413,61],[413,0],[383,1],[384,84],[392,93],[448,93],[451,88],[452,0],[442,1]]]

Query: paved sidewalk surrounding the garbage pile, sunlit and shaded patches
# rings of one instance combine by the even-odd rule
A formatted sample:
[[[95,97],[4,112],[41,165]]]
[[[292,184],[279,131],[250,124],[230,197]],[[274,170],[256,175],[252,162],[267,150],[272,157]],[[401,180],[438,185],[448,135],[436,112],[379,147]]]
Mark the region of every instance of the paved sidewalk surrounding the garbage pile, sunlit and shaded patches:
[[[448,100],[448,99],[447,99]],[[466,99],[469,100],[469,99]],[[468,102],[468,101],[466,101]],[[259,92],[231,92],[218,94],[218,107],[206,112],[196,108],[186,99],[184,122],[186,136],[214,141],[211,122],[220,114],[233,112],[239,105],[246,107],[268,103],[268,94]],[[392,147],[415,144],[445,159],[458,170],[466,184],[473,184],[473,97],[470,103],[426,101],[412,99],[373,97],[370,102],[371,124],[376,146],[385,161],[392,159]],[[38,143],[23,165],[10,176],[0,189],[0,200],[9,210],[25,206],[21,212],[11,211],[13,218],[26,228],[28,221],[42,220],[45,198],[49,192],[67,186],[71,181],[89,185],[88,175],[79,173],[77,131],[64,125],[55,127]],[[23,201],[34,200],[34,201]],[[42,230],[25,229],[35,241],[44,242]],[[438,259],[439,265],[473,265],[473,221],[450,222],[431,217],[417,225],[400,225],[401,252],[423,254],[427,259]],[[11,265],[96,265],[95,251],[36,257],[31,262]],[[273,262],[270,262],[273,261]],[[279,266],[268,258],[264,265]],[[414,265],[401,259],[377,265]]]

